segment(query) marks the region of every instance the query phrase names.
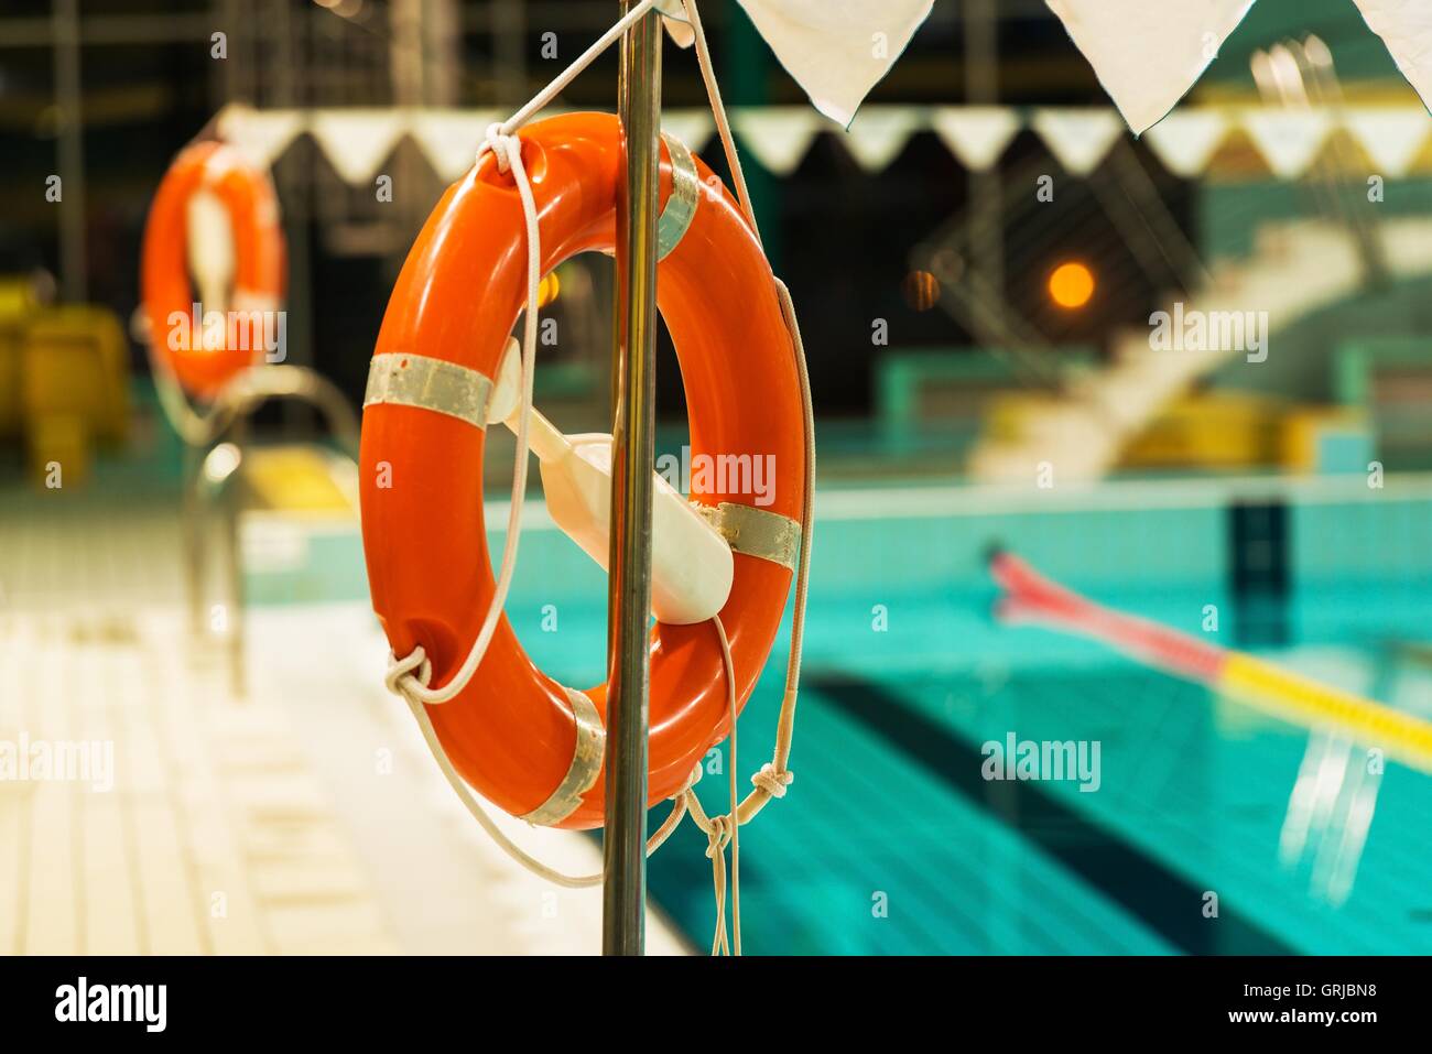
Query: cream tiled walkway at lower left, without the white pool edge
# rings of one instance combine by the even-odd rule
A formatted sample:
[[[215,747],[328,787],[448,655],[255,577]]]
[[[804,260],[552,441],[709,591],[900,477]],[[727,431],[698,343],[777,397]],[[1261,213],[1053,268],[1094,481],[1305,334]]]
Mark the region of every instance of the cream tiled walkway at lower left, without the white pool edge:
[[[113,745],[109,790],[0,783],[6,949],[397,951],[282,707],[229,699],[176,614],[106,626],[47,613],[0,636],[0,740]]]

